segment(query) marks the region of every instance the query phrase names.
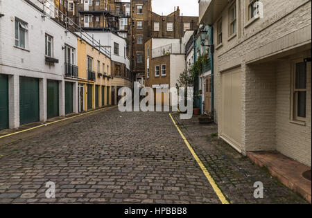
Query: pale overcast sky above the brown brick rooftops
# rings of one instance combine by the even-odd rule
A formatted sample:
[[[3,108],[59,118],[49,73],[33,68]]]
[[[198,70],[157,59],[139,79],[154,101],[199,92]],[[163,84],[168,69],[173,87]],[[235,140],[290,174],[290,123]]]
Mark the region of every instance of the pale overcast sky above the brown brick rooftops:
[[[123,0],[129,1],[129,0]],[[152,10],[158,15],[168,15],[179,6],[184,16],[198,16],[198,0],[152,0]]]

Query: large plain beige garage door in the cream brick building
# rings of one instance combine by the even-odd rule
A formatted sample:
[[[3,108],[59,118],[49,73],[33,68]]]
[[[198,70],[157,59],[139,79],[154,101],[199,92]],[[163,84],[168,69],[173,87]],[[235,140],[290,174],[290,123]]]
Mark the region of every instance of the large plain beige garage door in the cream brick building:
[[[221,136],[237,149],[241,140],[241,68],[221,74]]]

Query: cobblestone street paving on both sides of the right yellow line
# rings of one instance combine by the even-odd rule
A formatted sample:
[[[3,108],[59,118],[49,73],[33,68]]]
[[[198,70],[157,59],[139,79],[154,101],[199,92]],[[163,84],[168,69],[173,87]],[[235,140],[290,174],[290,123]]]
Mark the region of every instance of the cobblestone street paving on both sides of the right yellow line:
[[[180,124],[231,203],[305,202],[228,146],[207,138],[215,126],[192,130]],[[265,184],[265,199],[253,199],[255,180]],[[45,197],[48,181],[56,185],[55,199]],[[114,108],[1,145],[0,203],[220,201],[168,113]]]

